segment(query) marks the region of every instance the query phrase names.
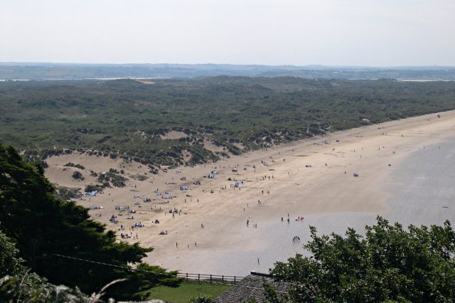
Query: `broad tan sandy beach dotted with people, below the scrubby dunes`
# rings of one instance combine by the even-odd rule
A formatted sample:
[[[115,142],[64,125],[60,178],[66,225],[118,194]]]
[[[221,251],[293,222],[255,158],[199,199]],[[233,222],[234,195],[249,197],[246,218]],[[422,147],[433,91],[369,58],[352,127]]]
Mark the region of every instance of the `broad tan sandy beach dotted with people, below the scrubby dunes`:
[[[361,232],[378,214],[419,225],[420,217],[410,218],[412,212],[407,211],[412,201],[400,206],[402,213],[394,213],[400,201],[390,201],[397,186],[410,184],[393,176],[414,169],[405,166],[407,160],[424,147],[430,153],[427,159],[433,155],[449,161],[450,156],[437,153],[454,137],[455,111],[451,111],[440,118],[433,114],[351,129],[157,175],[134,162],[78,154],[50,157],[45,174],[57,184],[84,188],[93,180],[71,180],[70,170],[63,171],[65,163],[85,166],[82,175],[90,170],[124,170],[129,178],[126,187],[106,188],[77,203],[101,206],[90,211],[92,217],[119,238],[129,235],[133,238],[124,240],[153,246],[146,258],[150,264],[182,272],[247,275],[304,253],[301,245],[309,240],[309,225],[321,233],[342,233],[348,226]],[[213,179],[204,177],[214,170]],[[137,175],[149,179],[132,178]],[[235,181],[242,184],[231,187]],[[188,186],[188,191],[181,191],[181,186]],[[135,213],[115,206],[134,208]],[[451,208],[437,206],[434,212],[433,223],[455,219]],[[117,223],[109,222],[112,215]],[[132,230],[136,223],[144,227]],[[167,234],[159,235],[161,231]],[[300,240],[293,241],[295,236]]]

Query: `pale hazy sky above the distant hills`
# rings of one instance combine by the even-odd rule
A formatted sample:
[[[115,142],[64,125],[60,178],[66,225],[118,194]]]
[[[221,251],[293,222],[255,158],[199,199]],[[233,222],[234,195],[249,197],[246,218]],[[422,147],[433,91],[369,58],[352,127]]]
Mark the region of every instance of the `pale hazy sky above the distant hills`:
[[[455,65],[455,0],[0,0],[0,61]]]

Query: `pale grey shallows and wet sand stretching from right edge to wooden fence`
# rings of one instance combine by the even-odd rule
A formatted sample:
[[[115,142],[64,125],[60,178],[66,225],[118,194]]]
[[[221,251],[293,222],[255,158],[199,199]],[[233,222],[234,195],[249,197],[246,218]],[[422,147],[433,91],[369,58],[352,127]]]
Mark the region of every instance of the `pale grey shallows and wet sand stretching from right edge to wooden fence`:
[[[203,260],[193,257],[192,265],[184,272],[211,272],[216,275],[248,275],[251,271],[268,272],[274,262],[286,261],[296,253],[309,255],[302,248],[310,238],[309,226],[315,226],[318,235],[338,233],[347,228],[365,233],[365,225],[373,225],[380,215],[390,223],[408,225],[441,225],[445,220],[455,223],[455,138],[444,144],[427,146],[414,151],[397,166],[390,166],[390,179],[380,185],[388,193],[390,211],[378,214],[336,213],[322,216],[305,216],[289,223],[277,218],[274,222],[258,223],[245,231],[247,238],[257,241],[258,248],[250,250],[213,250],[206,252]],[[295,235],[299,242],[293,242]],[[242,240],[242,239],[240,239]],[[259,258],[259,262],[258,262]]]

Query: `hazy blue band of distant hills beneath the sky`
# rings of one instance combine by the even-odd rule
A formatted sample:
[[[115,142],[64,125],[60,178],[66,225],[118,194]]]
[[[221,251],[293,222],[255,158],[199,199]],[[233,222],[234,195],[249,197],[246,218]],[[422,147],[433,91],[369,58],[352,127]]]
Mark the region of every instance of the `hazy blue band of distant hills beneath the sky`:
[[[0,63],[0,80],[80,80],[113,78],[198,78],[294,76],[307,79],[455,80],[455,67],[400,66],[387,68],[323,65],[229,64],[71,64]]]

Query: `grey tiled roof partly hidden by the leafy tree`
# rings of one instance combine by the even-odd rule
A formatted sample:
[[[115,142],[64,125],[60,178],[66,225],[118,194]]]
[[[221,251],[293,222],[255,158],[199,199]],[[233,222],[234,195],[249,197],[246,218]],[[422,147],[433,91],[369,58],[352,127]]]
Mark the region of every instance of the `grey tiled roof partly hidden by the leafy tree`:
[[[237,282],[236,285],[220,294],[213,300],[213,303],[241,303],[246,302],[250,298],[256,299],[258,303],[264,302],[264,287],[262,287],[262,279],[278,292],[287,292],[289,283],[277,282],[269,275],[253,273]]]

